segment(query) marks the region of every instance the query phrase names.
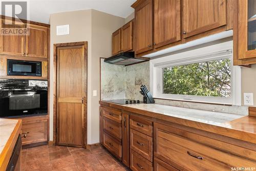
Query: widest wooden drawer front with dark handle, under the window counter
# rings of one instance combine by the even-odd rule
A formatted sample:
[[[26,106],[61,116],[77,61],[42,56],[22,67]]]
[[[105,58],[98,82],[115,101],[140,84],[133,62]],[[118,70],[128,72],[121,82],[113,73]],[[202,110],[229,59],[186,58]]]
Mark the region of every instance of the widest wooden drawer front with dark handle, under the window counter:
[[[175,167],[179,165],[185,170],[230,170],[231,167],[255,166],[255,161],[183,137],[188,134],[184,131],[181,135],[175,134],[179,129],[174,127],[158,123],[154,126],[155,157]]]

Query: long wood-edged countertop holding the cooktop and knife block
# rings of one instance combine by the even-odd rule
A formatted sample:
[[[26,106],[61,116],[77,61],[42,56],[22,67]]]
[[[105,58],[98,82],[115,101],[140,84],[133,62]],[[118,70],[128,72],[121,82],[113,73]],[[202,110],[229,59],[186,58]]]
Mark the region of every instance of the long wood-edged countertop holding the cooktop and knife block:
[[[230,114],[203,111],[163,104],[115,104],[101,100],[108,105],[123,111],[194,127],[203,131],[216,133],[256,143],[256,117],[244,114]]]

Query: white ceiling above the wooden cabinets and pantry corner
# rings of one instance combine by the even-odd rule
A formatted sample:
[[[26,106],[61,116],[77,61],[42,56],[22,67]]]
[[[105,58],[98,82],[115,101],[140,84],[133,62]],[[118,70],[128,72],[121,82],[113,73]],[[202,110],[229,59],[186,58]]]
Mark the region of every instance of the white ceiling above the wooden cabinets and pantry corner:
[[[27,0],[29,20],[49,24],[50,14],[95,9],[126,18],[136,0]]]

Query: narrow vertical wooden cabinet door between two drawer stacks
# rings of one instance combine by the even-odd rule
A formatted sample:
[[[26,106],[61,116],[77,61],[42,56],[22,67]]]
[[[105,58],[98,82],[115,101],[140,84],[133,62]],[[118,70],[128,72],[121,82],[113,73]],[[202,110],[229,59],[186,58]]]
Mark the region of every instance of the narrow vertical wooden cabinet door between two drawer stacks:
[[[122,162],[124,165],[129,167],[129,115],[123,113],[122,115]]]

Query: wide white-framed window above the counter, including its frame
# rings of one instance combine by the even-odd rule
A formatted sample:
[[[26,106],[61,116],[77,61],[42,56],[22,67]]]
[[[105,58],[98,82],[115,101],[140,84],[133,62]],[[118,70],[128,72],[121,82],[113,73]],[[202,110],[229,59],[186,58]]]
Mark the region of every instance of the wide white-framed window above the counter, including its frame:
[[[153,97],[241,105],[241,69],[232,58],[228,41],[152,59]]]

